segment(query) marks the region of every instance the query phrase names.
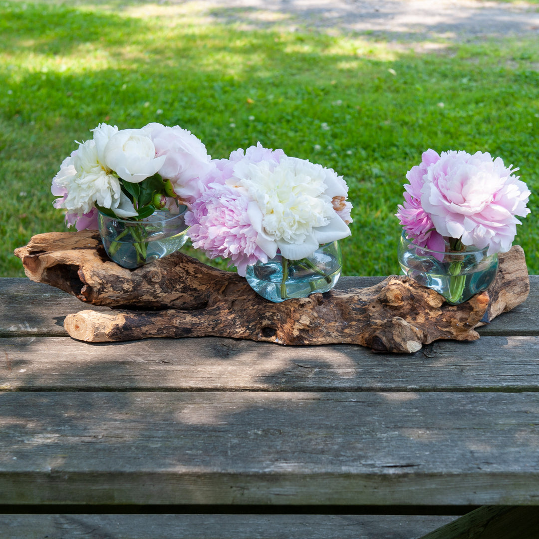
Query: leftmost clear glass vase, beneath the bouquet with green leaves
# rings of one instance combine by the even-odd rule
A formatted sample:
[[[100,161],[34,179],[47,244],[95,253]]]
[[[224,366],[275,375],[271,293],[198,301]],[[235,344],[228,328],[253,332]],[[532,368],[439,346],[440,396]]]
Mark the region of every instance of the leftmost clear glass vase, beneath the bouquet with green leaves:
[[[99,233],[110,260],[133,269],[177,251],[187,240],[185,206],[179,213],[156,210],[140,221],[99,212]]]

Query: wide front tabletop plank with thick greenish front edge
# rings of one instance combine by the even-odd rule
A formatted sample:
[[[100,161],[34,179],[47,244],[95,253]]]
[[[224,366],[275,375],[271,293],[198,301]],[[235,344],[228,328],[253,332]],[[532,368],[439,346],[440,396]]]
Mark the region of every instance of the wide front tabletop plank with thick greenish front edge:
[[[537,393],[3,392],[0,503],[534,505]]]

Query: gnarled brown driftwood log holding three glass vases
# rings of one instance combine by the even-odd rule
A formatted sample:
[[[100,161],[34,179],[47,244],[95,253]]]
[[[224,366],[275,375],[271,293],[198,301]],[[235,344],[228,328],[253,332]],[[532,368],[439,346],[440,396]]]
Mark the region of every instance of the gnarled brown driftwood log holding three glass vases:
[[[439,339],[479,338],[474,328],[519,305],[529,293],[520,246],[500,255],[499,272],[488,291],[458,306],[396,275],[368,288],[272,303],[236,273],[182,252],[140,268],[122,268],[107,259],[96,231],[38,234],[15,254],[33,281],[112,308],[66,317],[68,333],[87,342],[212,335],[413,353]]]

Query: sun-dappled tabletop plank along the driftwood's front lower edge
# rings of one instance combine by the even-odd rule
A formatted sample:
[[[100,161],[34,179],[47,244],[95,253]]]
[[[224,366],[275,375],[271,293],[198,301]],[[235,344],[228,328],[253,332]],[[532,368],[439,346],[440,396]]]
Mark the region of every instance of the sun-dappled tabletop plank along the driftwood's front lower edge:
[[[539,391],[539,337],[437,341],[412,355],[218,337],[0,339],[3,390]]]

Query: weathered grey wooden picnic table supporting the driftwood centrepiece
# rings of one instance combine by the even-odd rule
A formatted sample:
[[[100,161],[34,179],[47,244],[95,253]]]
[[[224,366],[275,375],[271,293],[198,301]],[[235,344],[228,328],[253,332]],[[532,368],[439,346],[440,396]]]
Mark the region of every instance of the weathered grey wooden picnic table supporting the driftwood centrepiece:
[[[0,279],[0,537],[537,538],[530,285],[478,341],[398,355],[82,343],[77,299]]]

